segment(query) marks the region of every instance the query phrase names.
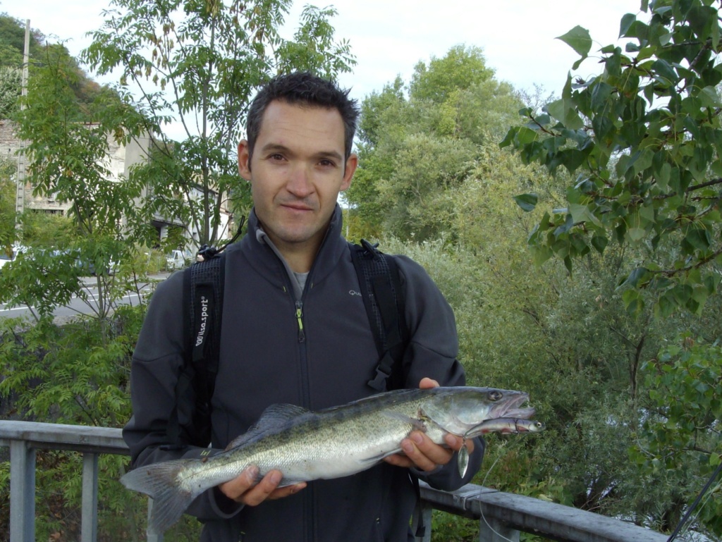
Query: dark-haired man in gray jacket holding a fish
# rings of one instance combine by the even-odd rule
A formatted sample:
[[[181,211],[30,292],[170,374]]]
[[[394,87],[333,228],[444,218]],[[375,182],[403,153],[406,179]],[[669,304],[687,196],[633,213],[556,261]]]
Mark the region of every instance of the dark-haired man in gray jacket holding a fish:
[[[211,453],[273,403],[319,410],[376,393],[367,381],[378,353],[336,204],[357,167],[357,115],[347,92],[310,74],[277,77],[251,105],[238,169],[251,183],[254,208],[248,235],[226,250]],[[405,386],[463,385],[451,307],[418,264],[396,261],[410,336]],[[209,453],[183,429],[180,443],[165,431],[183,367],[182,288],[181,274],[160,285],[134,352],[134,417],[123,431],[134,467]],[[368,471],[282,488],[282,473],[256,484],[251,467],[201,495],[188,513],[205,523],[204,541],[407,541],[411,476],[456,489],[479,468],[480,441],[475,451],[466,442],[465,478],[452,461],[464,442],[448,435],[446,444],[414,432],[401,443],[403,455]]]

